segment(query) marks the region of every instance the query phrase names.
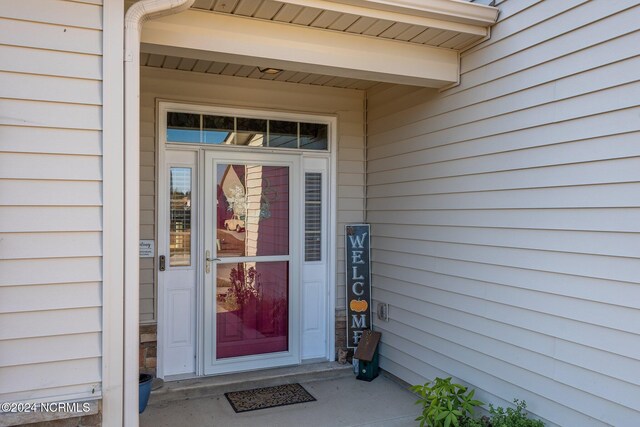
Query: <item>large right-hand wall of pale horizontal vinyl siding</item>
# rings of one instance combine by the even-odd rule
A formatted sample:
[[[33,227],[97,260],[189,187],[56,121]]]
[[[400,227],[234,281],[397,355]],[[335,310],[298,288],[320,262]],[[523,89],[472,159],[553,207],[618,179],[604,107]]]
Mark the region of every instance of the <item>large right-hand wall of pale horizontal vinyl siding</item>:
[[[500,2],[461,84],[368,92],[381,366],[548,425],[640,417],[640,7]]]

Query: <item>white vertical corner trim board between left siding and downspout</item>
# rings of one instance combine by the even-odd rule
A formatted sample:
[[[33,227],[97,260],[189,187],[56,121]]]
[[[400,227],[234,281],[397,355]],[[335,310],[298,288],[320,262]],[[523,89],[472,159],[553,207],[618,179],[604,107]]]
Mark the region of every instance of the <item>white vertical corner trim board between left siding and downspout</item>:
[[[123,423],[124,398],[124,0],[103,7],[102,82],[102,425]]]

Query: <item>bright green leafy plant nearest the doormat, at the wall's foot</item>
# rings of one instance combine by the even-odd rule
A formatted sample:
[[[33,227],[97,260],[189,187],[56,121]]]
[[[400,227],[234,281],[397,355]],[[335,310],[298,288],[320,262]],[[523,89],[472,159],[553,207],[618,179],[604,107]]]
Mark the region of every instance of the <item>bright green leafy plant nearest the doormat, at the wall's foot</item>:
[[[422,415],[416,418],[420,427],[464,427],[471,421],[473,409],[483,405],[473,398],[475,390],[467,391],[467,387],[452,383],[451,377],[436,378],[411,390],[420,396],[416,401],[422,405]]]

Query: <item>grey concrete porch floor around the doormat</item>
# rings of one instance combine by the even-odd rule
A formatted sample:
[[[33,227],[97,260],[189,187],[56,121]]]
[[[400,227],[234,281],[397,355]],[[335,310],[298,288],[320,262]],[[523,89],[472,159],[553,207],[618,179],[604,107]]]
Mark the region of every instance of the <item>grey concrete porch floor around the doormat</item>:
[[[283,381],[283,383],[289,381]],[[163,426],[416,426],[419,408],[416,397],[381,373],[372,382],[355,375],[314,379],[300,383],[315,402],[236,414],[224,392],[208,397],[153,402],[140,415],[141,427]],[[252,388],[247,382],[244,389]]]

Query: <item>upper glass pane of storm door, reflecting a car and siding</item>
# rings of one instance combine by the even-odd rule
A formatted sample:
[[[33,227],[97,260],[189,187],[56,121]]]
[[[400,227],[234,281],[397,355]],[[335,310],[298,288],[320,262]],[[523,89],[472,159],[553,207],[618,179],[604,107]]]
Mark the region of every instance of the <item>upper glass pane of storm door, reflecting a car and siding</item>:
[[[218,257],[289,253],[289,168],[219,164]]]

